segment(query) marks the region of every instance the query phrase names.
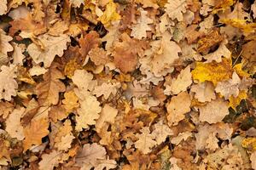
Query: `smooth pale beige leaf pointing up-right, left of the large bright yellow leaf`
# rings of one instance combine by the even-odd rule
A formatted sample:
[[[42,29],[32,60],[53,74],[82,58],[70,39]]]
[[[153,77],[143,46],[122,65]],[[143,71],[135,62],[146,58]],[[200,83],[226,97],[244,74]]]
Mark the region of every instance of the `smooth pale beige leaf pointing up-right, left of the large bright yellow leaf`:
[[[171,84],[172,94],[179,94],[187,90],[187,88],[192,83],[192,75],[190,72],[190,66],[187,66],[184,70],[180,72],[176,79],[173,80]]]

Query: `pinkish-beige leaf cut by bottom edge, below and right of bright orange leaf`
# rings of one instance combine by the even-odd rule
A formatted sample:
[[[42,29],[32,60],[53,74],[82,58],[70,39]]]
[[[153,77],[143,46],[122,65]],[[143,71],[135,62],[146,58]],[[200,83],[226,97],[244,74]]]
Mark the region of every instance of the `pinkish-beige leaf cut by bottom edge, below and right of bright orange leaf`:
[[[58,167],[61,160],[61,153],[52,150],[49,154],[43,154],[42,160],[39,161],[39,170],[51,170],[54,167]]]

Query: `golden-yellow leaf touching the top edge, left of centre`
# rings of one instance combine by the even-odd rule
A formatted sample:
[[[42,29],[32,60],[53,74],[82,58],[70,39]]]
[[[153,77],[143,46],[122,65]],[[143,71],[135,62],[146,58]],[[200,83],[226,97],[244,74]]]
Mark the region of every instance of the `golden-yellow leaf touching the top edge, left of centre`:
[[[106,26],[108,26],[109,22],[113,20],[119,20],[120,15],[116,12],[116,7],[116,4],[113,3],[113,1],[110,1],[106,6],[106,10],[98,20],[100,20],[102,24]]]

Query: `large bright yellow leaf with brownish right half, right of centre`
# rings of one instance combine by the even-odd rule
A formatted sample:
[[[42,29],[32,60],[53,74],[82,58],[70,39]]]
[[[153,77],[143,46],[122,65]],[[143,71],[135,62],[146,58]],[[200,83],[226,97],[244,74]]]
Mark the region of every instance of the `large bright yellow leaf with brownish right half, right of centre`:
[[[221,63],[213,61],[212,63],[196,62],[195,70],[191,71],[194,80],[200,82],[209,81],[214,86],[218,82],[232,77],[232,65],[230,59],[223,59]]]

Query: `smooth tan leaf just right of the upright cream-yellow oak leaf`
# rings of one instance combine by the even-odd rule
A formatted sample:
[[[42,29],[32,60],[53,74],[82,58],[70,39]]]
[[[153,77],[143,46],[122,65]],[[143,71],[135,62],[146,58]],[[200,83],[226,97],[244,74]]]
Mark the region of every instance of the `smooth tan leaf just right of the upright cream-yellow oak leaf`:
[[[115,116],[117,116],[118,110],[106,104],[102,108],[102,113],[99,119],[96,121],[96,131],[100,130],[105,122],[113,123]]]

